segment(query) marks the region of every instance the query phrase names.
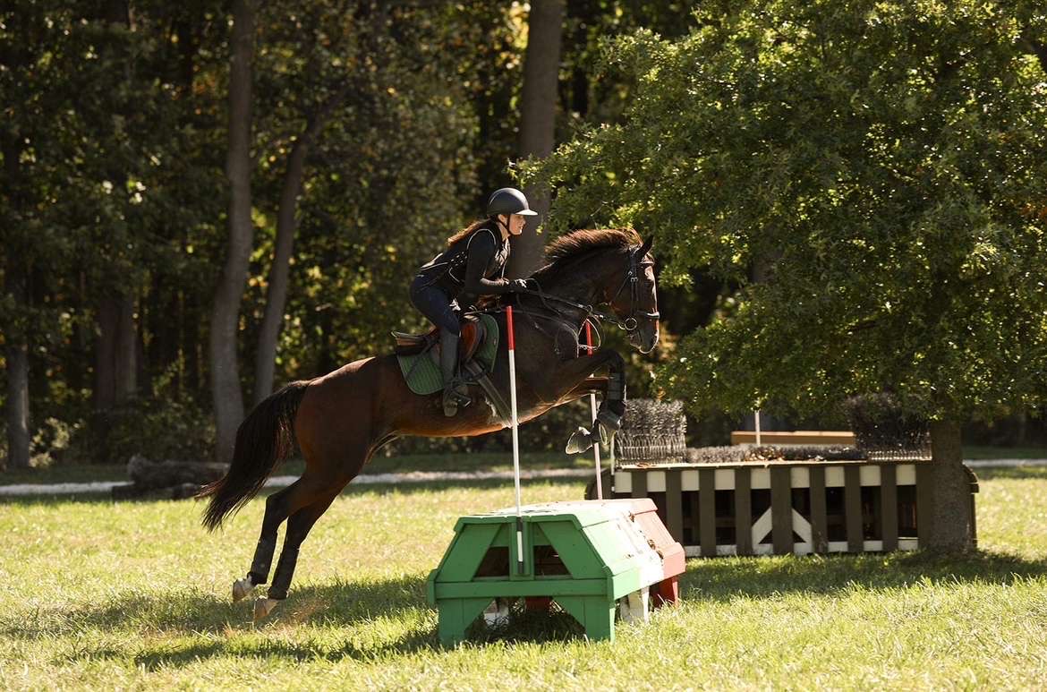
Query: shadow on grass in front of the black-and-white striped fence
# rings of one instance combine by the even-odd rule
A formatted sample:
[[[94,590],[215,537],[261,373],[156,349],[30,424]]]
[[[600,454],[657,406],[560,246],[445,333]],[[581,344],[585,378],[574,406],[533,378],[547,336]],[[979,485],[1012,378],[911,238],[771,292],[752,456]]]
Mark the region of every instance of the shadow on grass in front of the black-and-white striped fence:
[[[738,557],[689,560],[681,575],[681,597],[729,601],[739,596],[832,594],[864,587],[903,588],[918,583],[1011,584],[1047,575],[1047,560],[975,552],[939,555],[926,551],[807,555],[802,557]]]

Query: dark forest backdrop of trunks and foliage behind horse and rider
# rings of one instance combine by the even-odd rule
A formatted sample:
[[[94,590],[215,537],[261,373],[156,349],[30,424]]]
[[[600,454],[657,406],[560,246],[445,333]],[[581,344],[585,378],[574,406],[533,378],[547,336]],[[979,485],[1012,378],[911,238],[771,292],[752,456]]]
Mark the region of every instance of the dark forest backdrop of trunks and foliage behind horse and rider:
[[[708,48],[717,32],[733,32],[720,45],[737,43],[748,40],[753,17],[801,7],[72,4],[16,0],[0,12],[0,397],[2,465],[10,468],[121,462],[132,453],[225,457],[244,410],[274,386],[387,352],[391,330],[424,327],[407,300],[410,277],[446,237],[481,216],[491,191],[534,183],[528,192],[547,213],[551,188],[585,193],[554,202],[547,216],[555,223],[547,226],[557,231],[622,219],[628,201],[607,187],[621,182],[623,166],[616,179],[578,153],[585,147],[569,147],[560,168],[521,182],[517,162],[634,125],[649,65],[645,73],[623,60],[640,65],[666,46],[676,55],[673,42],[686,48],[689,37],[705,36],[695,41]],[[844,5],[867,14],[877,3]],[[1030,13],[1007,19],[1018,27],[1016,50],[1029,57],[1029,69],[1039,65],[1042,81],[1047,50],[1021,22],[1034,24],[1043,13]],[[972,35],[954,23],[957,35]],[[662,48],[651,43],[659,41]],[[781,43],[772,37],[767,46]],[[879,49],[873,63],[890,63],[898,50]],[[678,83],[667,76],[666,90]],[[659,121],[658,112],[649,115]],[[625,154],[606,160],[616,155]],[[755,169],[734,173],[760,180]],[[670,185],[649,193],[665,201],[666,214],[678,201]],[[572,201],[579,196],[585,204]],[[660,238],[658,227],[637,226]],[[549,228],[532,236],[539,244],[549,237]],[[514,246],[511,272],[528,273],[538,251]],[[675,266],[674,280],[660,287],[661,348],[641,356],[606,335],[628,354],[630,397],[671,389],[667,379],[683,362],[680,337],[741,313],[767,265],[753,256],[741,271],[721,271],[716,256],[658,240],[654,253]],[[768,353],[747,358],[775,364]],[[765,389],[774,375],[761,375]],[[692,444],[726,443],[744,425],[745,404],[760,402],[748,392],[729,395],[721,410],[690,406]],[[834,407],[811,412],[788,399],[771,397],[783,424],[846,424]],[[965,440],[1044,443],[1042,400],[1026,401],[965,414]],[[522,428],[522,444],[558,447],[584,415],[583,407],[554,411]],[[393,449],[507,444],[493,433],[398,441]]]

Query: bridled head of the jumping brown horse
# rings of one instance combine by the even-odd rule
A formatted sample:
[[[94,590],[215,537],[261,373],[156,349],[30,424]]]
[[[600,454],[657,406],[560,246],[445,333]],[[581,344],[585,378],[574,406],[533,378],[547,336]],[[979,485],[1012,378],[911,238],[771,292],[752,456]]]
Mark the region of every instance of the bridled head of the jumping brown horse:
[[[652,238],[630,247],[625,262],[608,287],[607,302],[628,332],[629,343],[641,353],[650,353],[658,345],[658,287],[654,284],[654,259],[650,256]],[[616,290],[617,288],[617,290]]]

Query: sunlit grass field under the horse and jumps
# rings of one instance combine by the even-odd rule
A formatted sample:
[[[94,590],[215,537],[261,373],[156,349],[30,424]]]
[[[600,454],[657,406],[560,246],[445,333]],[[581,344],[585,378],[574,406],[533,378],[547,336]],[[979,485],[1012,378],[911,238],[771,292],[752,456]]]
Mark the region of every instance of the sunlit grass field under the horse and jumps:
[[[1047,469],[982,470],[981,552],[691,560],[683,603],[588,643],[565,616],[443,649],[425,577],[511,484],[364,486],[303,545],[266,624],[229,602],[262,503],[0,503],[0,688],[1043,689]],[[533,482],[526,501],[577,499]]]

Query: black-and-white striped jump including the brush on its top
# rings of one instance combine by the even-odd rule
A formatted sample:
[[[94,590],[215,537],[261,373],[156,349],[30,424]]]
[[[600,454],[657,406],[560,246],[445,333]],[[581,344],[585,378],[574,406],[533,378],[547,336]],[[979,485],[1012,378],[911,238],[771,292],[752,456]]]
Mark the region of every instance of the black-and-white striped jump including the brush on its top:
[[[916,550],[935,542],[938,464],[926,437],[890,449],[876,440],[853,461],[739,461],[735,454],[690,463],[678,402],[630,400],[627,407],[610,496],[651,499],[689,557]],[[973,517],[978,485],[966,473]],[[971,545],[975,541],[972,520]]]

